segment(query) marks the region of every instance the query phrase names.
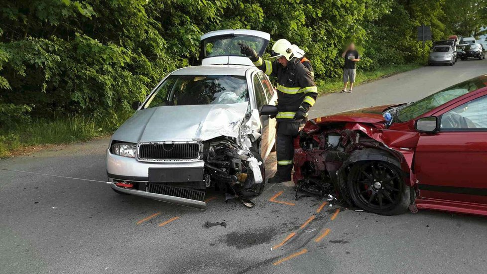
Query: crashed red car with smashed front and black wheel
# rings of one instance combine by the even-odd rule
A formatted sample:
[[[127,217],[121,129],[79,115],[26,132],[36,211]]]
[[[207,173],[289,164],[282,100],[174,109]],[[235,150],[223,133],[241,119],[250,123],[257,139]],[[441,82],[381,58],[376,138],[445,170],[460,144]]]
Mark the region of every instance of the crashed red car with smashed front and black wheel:
[[[293,180],[366,211],[487,215],[487,75],[419,101],[308,121]]]

